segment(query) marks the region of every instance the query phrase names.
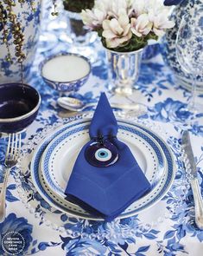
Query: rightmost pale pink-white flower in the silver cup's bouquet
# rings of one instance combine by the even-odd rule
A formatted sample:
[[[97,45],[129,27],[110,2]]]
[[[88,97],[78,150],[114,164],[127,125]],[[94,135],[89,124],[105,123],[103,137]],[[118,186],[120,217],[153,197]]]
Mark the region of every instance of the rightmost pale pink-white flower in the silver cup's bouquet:
[[[168,20],[168,10],[162,10],[160,14],[154,15],[149,12],[149,20],[153,23],[153,32],[156,36],[163,36],[165,31],[174,27],[174,22]]]

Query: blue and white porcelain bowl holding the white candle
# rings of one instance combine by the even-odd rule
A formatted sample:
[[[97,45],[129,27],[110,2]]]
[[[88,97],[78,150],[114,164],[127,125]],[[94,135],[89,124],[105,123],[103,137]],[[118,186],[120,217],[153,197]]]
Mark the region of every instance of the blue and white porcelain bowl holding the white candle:
[[[58,82],[58,81],[50,80],[43,75],[42,69],[48,61],[50,61],[58,56],[77,56],[79,58],[82,58],[89,65],[89,71],[86,73],[86,75],[84,75],[83,77],[80,77],[79,79],[76,79],[76,80],[70,80],[70,81],[66,81],[66,82]],[[89,75],[91,74],[91,69],[92,69],[91,67],[92,66],[91,66],[90,61],[85,56],[80,56],[79,54],[73,54],[73,53],[60,53],[58,55],[49,56],[46,60],[41,62],[40,69],[41,69],[41,77],[43,78],[43,80],[46,83],[48,83],[49,86],[51,86],[53,89],[56,89],[60,92],[71,93],[71,92],[78,91],[86,83],[86,81],[89,78]],[[59,67],[56,67],[56,72],[57,72],[57,69],[59,69]]]

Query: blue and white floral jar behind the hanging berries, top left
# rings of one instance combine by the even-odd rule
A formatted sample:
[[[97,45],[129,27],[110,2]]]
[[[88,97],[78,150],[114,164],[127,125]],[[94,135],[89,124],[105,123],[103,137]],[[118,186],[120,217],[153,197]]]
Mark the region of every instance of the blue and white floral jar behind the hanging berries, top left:
[[[30,8],[30,1],[26,0],[21,6],[21,3],[16,1],[16,7],[13,7],[17,16],[17,21],[22,24],[23,34],[25,41],[23,44],[23,52],[26,55],[24,61],[24,80],[28,82],[27,76],[30,66],[35,57],[35,50],[38,41],[39,24],[41,17],[41,0],[35,0],[35,9],[33,12]],[[0,38],[3,36],[2,26],[0,26]],[[0,41],[0,83],[4,82],[19,82],[21,80],[20,64],[17,62],[15,56],[15,45],[13,44],[13,38],[10,36],[10,53],[13,63],[7,62],[5,57],[7,56],[7,49]]]

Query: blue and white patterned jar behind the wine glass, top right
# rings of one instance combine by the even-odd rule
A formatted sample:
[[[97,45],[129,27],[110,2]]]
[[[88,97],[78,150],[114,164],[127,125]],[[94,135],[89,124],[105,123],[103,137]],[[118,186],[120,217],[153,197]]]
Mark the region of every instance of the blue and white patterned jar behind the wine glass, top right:
[[[191,89],[193,78],[192,75],[184,73],[181,69],[181,66],[176,58],[175,40],[177,31],[181,24],[182,16],[185,13],[193,12],[194,8],[199,8],[200,3],[203,3],[203,0],[184,0],[181,2],[181,4],[175,6],[171,16],[171,20],[174,20],[175,26],[173,29],[167,31],[166,36],[163,37],[163,42],[161,44],[163,59],[174,71],[174,76],[177,78],[178,82],[180,82],[180,84],[187,89]],[[200,91],[203,90],[203,76],[198,77],[197,89]]]

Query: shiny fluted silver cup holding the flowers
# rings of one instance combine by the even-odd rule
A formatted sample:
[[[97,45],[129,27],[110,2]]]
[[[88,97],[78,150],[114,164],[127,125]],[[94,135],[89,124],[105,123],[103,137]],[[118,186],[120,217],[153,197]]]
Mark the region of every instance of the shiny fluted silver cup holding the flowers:
[[[131,52],[106,51],[110,89],[119,95],[132,95],[139,77],[143,49]]]

